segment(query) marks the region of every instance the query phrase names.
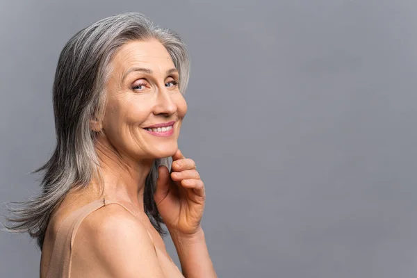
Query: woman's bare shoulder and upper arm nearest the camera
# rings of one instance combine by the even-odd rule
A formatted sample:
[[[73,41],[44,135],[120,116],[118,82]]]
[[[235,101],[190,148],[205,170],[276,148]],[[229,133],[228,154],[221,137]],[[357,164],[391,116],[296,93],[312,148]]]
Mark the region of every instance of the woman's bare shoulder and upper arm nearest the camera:
[[[117,204],[102,206],[81,222],[74,251],[84,258],[79,265],[87,260],[108,277],[164,277],[147,229]]]

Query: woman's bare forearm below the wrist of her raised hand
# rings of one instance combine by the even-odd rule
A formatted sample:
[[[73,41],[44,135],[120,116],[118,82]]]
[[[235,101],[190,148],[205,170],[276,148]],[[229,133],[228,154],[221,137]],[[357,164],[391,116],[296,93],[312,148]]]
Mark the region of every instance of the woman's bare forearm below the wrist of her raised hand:
[[[181,269],[186,278],[217,277],[206,245],[203,229],[193,236],[179,236],[171,234],[177,249]]]

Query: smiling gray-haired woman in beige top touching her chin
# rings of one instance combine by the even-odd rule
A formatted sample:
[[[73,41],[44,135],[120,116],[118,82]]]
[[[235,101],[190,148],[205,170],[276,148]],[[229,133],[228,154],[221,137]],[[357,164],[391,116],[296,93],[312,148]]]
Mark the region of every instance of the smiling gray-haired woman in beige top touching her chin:
[[[204,183],[177,145],[188,76],[181,38],[138,13],[67,42],[53,88],[57,145],[35,171],[42,193],[9,218],[10,231],[38,239],[40,277],[216,277]]]

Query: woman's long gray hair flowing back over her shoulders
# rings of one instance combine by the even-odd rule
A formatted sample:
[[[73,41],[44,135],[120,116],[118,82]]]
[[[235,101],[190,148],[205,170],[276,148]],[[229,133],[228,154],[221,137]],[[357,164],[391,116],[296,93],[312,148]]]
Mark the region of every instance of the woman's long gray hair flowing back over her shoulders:
[[[32,173],[43,172],[40,195],[19,208],[6,220],[7,231],[36,238],[42,250],[45,230],[52,211],[71,188],[85,188],[92,178],[103,180],[95,152],[98,133],[90,129],[90,120],[101,119],[106,107],[106,83],[111,59],[131,40],[156,39],[167,49],[179,71],[179,90],[184,94],[190,72],[185,44],[177,33],[156,26],[140,13],[121,13],[101,19],[76,33],[60,53],[53,85],[56,149],[49,161]],[[154,201],[158,166],[170,169],[170,158],[154,161],[145,181],[144,208],[155,229],[164,236],[163,220]]]

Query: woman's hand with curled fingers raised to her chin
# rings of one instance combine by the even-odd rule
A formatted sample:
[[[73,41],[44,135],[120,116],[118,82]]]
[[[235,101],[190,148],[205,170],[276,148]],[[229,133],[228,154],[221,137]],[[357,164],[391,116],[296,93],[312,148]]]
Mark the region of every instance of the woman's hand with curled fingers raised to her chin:
[[[154,199],[170,234],[193,236],[201,229],[206,193],[195,162],[181,151],[172,156],[171,173],[158,167]]]

